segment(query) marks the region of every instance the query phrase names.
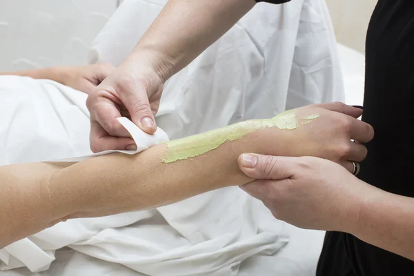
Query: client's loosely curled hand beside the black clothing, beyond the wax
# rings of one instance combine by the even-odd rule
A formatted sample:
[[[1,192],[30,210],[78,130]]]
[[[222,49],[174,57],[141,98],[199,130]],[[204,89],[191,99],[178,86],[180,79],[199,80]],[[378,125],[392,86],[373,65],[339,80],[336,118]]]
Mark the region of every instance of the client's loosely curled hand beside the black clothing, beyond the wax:
[[[324,103],[304,106],[295,110],[296,117],[319,115],[310,124],[302,124],[286,132],[281,154],[284,156],[315,156],[350,166],[349,161],[365,159],[363,143],[374,137],[373,127],[357,118],[362,109],[344,103]],[[351,139],[359,141],[354,143]],[[351,164],[352,165],[352,164]]]

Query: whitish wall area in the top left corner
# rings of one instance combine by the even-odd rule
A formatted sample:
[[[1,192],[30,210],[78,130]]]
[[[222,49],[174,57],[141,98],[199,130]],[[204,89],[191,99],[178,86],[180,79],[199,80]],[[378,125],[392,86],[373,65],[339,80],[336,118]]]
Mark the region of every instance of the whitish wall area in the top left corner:
[[[1,0],[0,71],[83,65],[118,0]]]

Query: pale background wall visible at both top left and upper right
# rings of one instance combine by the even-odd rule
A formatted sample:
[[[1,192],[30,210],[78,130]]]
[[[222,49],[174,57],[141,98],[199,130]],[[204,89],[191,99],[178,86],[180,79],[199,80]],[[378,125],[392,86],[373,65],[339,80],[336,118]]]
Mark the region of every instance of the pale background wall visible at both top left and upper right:
[[[122,0],[0,0],[0,71],[86,64],[92,39]],[[364,52],[377,0],[326,0],[337,39]]]

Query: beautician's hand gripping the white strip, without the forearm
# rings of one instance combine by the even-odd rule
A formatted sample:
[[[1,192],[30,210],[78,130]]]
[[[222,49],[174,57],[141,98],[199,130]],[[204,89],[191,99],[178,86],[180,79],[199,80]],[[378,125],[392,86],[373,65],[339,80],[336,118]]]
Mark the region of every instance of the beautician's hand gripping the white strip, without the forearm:
[[[86,105],[90,111],[93,152],[136,149],[118,117],[128,117],[149,134],[157,130],[154,116],[166,79],[159,65],[163,62],[150,53],[128,57],[90,93]]]

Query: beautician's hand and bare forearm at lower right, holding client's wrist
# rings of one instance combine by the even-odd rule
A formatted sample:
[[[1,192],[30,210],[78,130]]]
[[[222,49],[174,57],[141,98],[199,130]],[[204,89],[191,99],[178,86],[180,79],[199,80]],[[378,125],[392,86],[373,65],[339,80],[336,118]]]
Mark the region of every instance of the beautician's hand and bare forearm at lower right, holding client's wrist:
[[[326,159],[253,159],[254,166],[239,159],[246,175],[259,179],[242,188],[262,200],[277,219],[302,228],[350,233],[414,261],[413,198],[375,188]]]

